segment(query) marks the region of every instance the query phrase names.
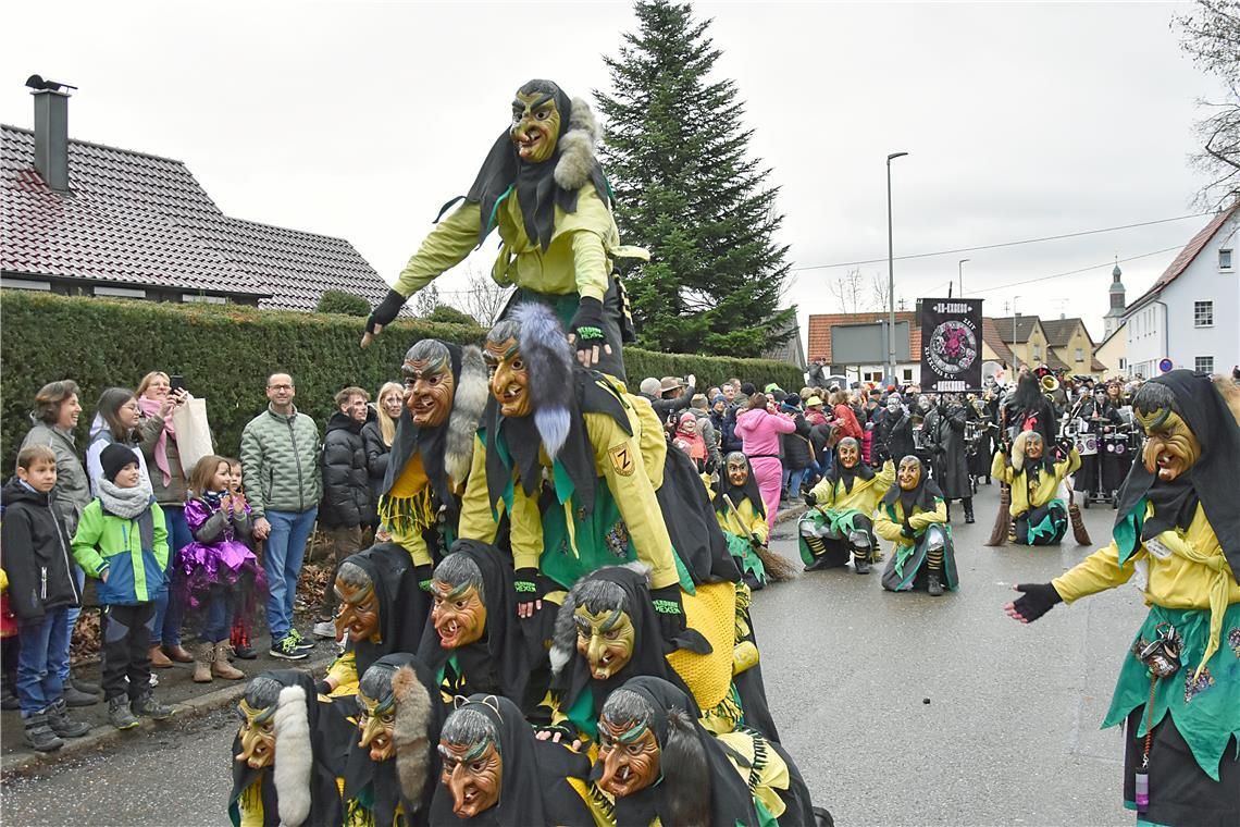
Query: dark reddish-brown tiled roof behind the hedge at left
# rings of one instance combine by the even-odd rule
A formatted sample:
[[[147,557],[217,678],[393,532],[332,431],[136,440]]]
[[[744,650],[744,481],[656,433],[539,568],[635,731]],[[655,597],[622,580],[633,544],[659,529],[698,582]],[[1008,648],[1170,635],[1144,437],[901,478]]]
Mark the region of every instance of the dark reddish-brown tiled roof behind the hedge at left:
[[[181,161],[71,140],[72,192],[35,170],[35,136],[0,125],[0,268],[314,310],[324,290],[387,284],[347,241],[224,216]]]

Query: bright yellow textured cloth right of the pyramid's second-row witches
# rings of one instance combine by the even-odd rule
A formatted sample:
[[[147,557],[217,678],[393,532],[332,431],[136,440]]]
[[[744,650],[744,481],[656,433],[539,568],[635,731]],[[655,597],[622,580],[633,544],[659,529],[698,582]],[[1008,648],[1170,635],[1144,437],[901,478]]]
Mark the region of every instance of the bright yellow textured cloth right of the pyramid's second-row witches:
[[[737,591],[732,583],[699,585],[697,594],[681,593],[684,620],[702,632],[712,648],[709,655],[678,648],[667,662],[681,676],[702,709],[712,709],[732,687],[732,650],[735,645]]]

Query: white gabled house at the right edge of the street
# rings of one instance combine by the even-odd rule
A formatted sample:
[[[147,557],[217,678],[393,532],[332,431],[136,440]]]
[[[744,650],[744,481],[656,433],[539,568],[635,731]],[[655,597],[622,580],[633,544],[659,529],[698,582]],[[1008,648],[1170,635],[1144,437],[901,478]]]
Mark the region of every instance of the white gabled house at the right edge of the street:
[[[1240,365],[1240,201],[1215,214],[1153,285],[1123,312],[1127,366],[1158,376],[1161,363],[1207,373]]]

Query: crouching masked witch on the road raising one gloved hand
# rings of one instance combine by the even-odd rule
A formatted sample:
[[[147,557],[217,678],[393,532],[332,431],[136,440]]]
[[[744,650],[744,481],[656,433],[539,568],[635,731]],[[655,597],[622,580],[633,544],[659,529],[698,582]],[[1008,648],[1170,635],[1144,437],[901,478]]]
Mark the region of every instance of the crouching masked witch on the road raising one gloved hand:
[[[857,574],[869,573],[869,564],[882,559],[870,515],[894,481],[892,460],[874,474],[861,461],[861,443],[839,440],[831,470],[805,495],[811,510],[797,522],[806,572],[838,568],[851,557]]]

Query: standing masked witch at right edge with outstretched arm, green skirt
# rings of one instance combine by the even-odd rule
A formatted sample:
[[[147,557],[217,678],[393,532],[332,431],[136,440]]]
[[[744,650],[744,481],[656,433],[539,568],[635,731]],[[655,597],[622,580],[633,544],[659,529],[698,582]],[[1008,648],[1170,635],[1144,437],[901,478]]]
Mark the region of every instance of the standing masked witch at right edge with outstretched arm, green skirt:
[[[1229,410],[1230,408],[1230,410]],[[1133,399],[1148,441],[1120,491],[1111,544],[1050,583],[1019,584],[1033,622],[1147,568],[1149,614],[1102,727],[1123,723],[1123,800],[1138,825],[1236,823],[1240,813],[1240,391],[1172,371]]]

